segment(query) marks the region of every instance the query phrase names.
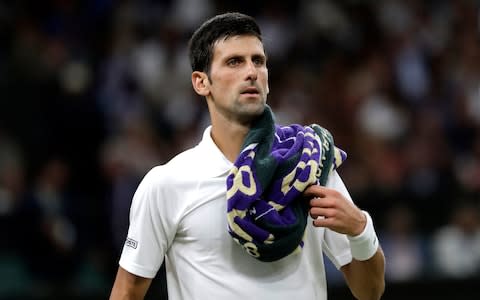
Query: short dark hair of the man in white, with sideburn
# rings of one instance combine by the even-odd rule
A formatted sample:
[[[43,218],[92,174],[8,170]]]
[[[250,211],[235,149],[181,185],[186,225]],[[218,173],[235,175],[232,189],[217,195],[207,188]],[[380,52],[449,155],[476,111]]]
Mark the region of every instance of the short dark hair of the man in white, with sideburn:
[[[188,43],[188,55],[192,71],[210,72],[215,43],[238,35],[253,35],[262,41],[262,33],[251,16],[230,12],[205,21],[192,35]]]

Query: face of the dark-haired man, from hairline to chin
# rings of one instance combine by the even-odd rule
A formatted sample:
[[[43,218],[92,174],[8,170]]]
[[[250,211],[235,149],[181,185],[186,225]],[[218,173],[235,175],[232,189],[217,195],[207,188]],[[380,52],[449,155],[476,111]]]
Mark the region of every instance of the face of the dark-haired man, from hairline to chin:
[[[209,78],[211,108],[228,120],[251,122],[263,112],[268,94],[262,42],[249,35],[219,40]]]

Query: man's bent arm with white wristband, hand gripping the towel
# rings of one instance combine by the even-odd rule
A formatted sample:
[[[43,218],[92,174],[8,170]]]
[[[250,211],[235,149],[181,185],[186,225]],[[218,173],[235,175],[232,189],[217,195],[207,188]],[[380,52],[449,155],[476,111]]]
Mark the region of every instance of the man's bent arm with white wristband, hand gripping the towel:
[[[340,270],[352,294],[359,300],[378,300],[385,290],[385,257],[378,244],[370,216],[335,189],[308,187],[310,215],[316,227],[346,234],[352,262]]]

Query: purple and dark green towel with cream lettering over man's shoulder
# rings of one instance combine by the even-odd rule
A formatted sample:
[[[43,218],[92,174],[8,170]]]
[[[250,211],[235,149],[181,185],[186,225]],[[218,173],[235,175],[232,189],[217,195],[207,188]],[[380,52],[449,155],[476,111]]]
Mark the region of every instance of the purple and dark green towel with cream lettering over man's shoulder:
[[[301,252],[309,211],[302,193],[325,185],[345,159],[328,130],[279,126],[266,106],[227,176],[228,232],[264,262]]]

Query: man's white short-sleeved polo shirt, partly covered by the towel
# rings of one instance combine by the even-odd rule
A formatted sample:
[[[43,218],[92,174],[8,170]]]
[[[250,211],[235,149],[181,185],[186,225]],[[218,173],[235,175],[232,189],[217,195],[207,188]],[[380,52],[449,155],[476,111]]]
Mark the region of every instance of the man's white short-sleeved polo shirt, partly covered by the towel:
[[[300,254],[275,262],[248,255],[227,231],[226,176],[233,164],[210,129],[138,186],[120,266],[153,278],[165,258],[171,300],[327,299],[322,251],[337,268],[351,262],[346,236],[310,219]],[[351,199],[336,172],[327,186]]]

